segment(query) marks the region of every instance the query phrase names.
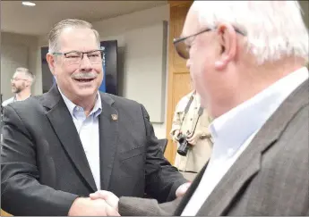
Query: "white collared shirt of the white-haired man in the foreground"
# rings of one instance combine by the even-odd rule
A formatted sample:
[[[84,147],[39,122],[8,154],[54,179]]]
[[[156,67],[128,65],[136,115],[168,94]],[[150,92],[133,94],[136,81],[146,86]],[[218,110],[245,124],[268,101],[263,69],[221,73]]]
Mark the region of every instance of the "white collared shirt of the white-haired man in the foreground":
[[[210,124],[210,133],[214,141],[210,163],[199,186],[186,204],[183,216],[196,215],[222,177],[249,146],[256,133],[262,129],[263,124],[306,79],[308,70],[303,67],[279,79],[269,88]]]

